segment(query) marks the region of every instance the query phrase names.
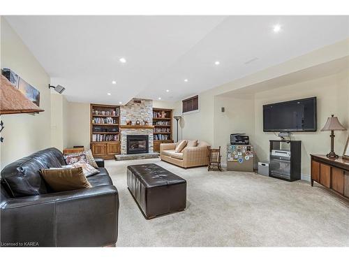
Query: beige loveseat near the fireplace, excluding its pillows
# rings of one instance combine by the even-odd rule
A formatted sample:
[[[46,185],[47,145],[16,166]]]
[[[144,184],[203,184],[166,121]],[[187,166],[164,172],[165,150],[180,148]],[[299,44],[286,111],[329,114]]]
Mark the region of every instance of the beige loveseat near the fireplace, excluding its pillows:
[[[179,141],[178,143],[180,143]],[[206,142],[198,141],[196,147],[184,147],[180,153],[174,152],[178,143],[161,144],[160,157],[161,160],[181,166],[182,168],[189,168],[193,166],[207,166],[208,164],[208,150]]]

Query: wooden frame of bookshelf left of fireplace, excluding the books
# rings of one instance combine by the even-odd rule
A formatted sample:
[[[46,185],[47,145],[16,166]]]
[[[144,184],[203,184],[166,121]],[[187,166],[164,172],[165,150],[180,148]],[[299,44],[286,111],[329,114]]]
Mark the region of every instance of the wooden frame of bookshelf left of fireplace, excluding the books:
[[[94,110],[119,110],[119,115],[96,115],[94,114]],[[94,117],[111,117],[116,118],[117,123],[116,124],[95,124],[92,122]],[[99,132],[99,131],[93,131],[94,126],[117,126],[118,131],[117,132]],[[119,138],[117,141],[93,141],[92,135],[93,134],[105,134],[105,135],[119,135]],[[121,138],[121,132],[120,132],[120,106],[119,105],[102,105],[102,104],[96,104],[91,103],[90,104],[90,143],[91,143],[91,151],[94,157],[102,157],[103,159],[114,159],[115,154],[120,154],[120,138]]]

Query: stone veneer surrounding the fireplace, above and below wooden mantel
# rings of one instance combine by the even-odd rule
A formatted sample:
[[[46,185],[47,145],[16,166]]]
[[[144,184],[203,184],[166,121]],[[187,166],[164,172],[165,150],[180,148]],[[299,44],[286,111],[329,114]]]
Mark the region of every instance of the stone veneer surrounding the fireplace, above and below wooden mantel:
[[[141,101],[141,103],[135,103]],[[153,122],[153,101],[149,99],[132,99],[126,105],[120,107],[120,124],[124,125],[131,120],[135,124],[137,120],[144,124],[143,120],[148,121],[149,125]],[[121,154],[127,154],[126,143],[127,135],[148,135],[149,153],[154,152],[153,129],[121,129]]]

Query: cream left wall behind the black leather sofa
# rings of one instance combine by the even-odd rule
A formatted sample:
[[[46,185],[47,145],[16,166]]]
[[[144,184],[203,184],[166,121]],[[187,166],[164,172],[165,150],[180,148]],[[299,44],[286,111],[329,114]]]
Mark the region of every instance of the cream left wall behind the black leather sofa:
[[[6,164],[51,146],[50,76],[21,38],[1,17],[1,68],[10,68],[40,91],[39,114],[1,115],[5,129],[1,136],[1,168]]]

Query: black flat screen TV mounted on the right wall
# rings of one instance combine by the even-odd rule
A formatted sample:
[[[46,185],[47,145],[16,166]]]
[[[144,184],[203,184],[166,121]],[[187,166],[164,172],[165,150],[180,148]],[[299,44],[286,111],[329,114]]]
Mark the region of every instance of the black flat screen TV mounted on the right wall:
[[[263,105],[263,131],[316,131],[316,97]]]

